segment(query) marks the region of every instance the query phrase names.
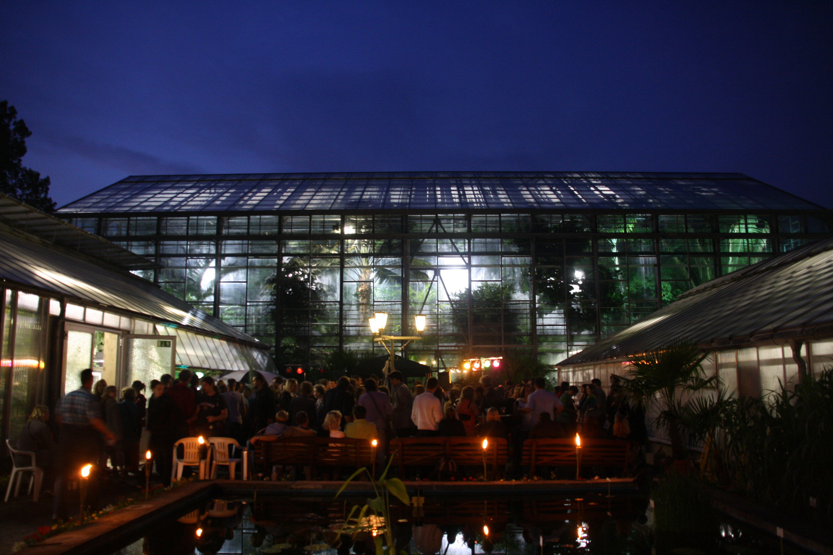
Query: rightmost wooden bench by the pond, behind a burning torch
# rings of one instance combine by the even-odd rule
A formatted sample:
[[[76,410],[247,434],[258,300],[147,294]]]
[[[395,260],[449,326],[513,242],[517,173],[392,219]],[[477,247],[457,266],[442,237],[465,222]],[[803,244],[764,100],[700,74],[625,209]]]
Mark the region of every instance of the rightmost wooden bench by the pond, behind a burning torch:
[[[627,471],[630,445],[618,439],[581,439],[581,469],[616,467]],[[576,468],[574,439],[527,439],[523,443],[521,465],[528,466],[530,475],[537,466]]]

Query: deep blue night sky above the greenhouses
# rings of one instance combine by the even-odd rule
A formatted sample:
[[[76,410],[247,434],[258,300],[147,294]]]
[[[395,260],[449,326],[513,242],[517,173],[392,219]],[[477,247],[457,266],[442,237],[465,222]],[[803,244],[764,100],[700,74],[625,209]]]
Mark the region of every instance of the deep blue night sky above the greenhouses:
[[[470,170],[739,171],[831,207],[833,2],[762,4],[4,0],[0,99],[58,206]]]

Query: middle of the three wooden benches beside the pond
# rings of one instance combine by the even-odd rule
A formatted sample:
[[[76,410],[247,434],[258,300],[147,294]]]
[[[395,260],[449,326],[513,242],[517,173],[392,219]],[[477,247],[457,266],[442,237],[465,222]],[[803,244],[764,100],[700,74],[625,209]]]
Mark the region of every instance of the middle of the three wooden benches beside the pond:
[[[407,467],[436,467],[442,458],[457,466],[482,466],[484,438],[401,438],[392,439],[389,453],[399,465],[399,475]],[[497,472],[506,465],[506,439],[489,438],[486,463]]]

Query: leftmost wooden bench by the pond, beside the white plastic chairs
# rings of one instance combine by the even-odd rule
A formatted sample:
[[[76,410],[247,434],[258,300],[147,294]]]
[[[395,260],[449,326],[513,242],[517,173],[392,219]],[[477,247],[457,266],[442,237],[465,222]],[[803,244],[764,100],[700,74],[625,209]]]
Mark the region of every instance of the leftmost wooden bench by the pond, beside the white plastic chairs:
[[[362,468],[373,464],[369,439],[261,436],[254,444],[254,463],[264,468],[276,464],[311,468]]]

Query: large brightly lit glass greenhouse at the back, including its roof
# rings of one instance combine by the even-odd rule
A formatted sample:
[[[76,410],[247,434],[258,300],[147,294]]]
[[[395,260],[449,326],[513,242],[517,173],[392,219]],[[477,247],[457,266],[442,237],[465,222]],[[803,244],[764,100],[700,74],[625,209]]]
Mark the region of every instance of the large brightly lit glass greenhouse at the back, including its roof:
[[[153,260],[137,273],[287,362],[378,351],[367,320],[384,311],[390,334],[427,316],[407,356],[435,369],[555,364],[831,230],[821,206],[702,173],[131,176],[57,214]]]

